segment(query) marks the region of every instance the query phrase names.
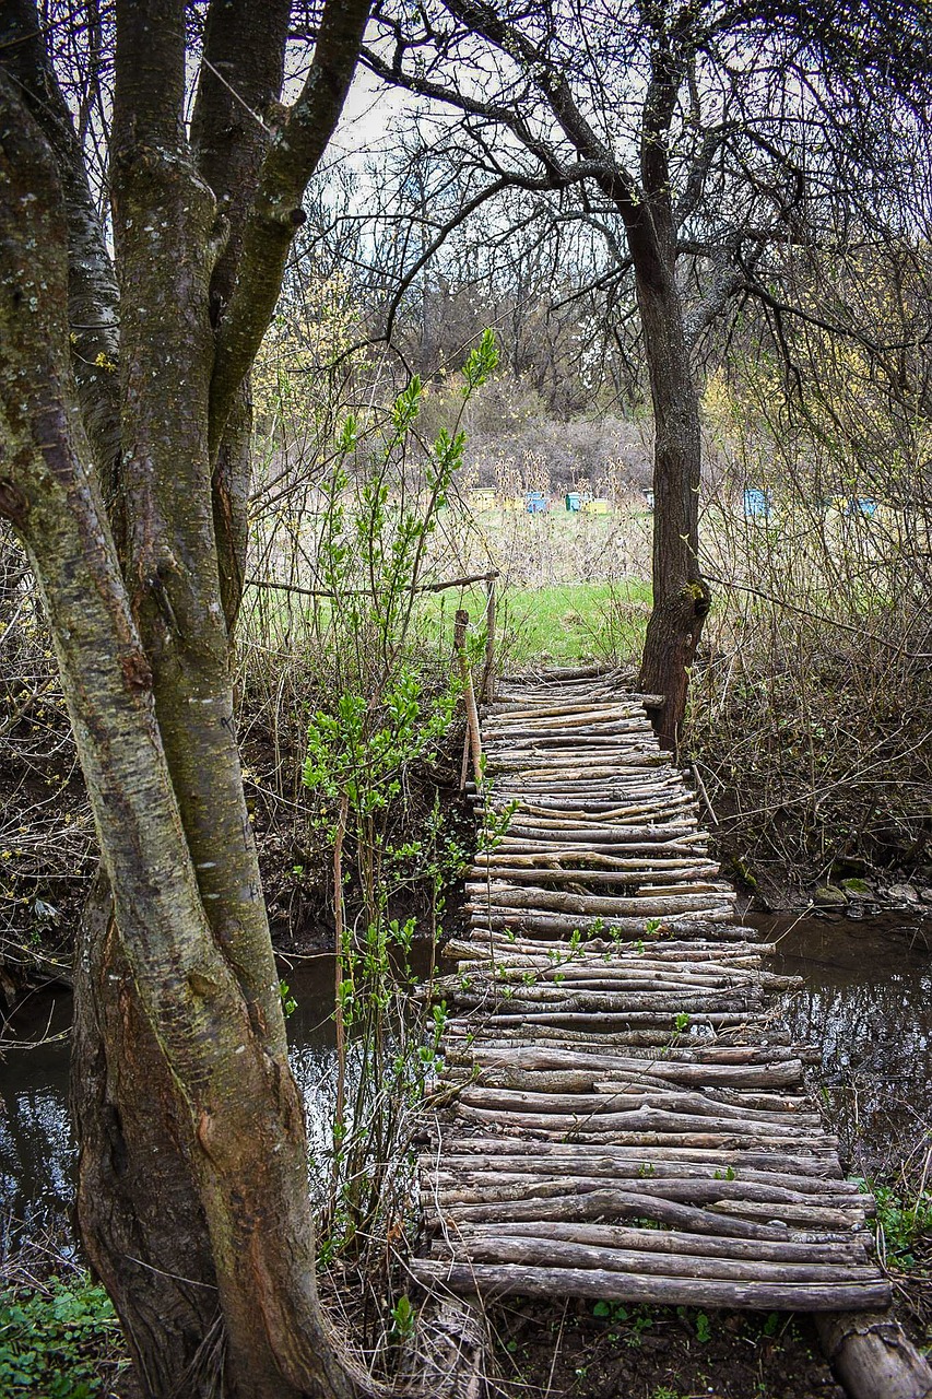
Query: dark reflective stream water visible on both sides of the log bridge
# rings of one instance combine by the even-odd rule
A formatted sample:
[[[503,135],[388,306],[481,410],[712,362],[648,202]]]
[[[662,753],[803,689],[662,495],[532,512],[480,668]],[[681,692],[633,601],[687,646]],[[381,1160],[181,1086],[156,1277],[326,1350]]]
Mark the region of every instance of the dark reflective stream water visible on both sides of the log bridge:
[[[817,1048],[814,1083],[851,1174],[915,1178],[932,1158],[932,911],[925,916],[757,918],[777,942],[771,967],[805,978],[784,997],[793,1038]],[[333,961],[284,972],[298,1009],[291,1060],[312,1144],[323,1146],[333,1080]],[[0,1221],[39,1226],[70,1210],[74,1143],[67,1112],[70,997],[35,995],[7,1025],[0,1062]],[[38,1048],[17,1048],[43,1039]],[[1,1242],[1,1240],[0,1240]]]

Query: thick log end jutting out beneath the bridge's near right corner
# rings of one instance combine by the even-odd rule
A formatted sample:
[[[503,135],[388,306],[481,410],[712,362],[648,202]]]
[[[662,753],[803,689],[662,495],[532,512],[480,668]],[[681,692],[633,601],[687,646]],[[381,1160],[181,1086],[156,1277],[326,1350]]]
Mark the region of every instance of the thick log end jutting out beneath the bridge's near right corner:
[[[932,1370],[890,1312],[823,1312],[814,1322],[849,1399],[932,1396]]]

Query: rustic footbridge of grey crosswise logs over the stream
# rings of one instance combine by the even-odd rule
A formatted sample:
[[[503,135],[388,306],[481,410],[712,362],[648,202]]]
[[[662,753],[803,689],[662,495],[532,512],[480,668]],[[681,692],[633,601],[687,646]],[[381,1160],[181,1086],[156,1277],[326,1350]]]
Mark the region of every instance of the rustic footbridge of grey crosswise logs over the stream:
[[[413,1272],[486,1297],[886,1308],[873,1202],[768,1004],[792,981],[735,922],[644,698],[564,674],[487,708]]]

